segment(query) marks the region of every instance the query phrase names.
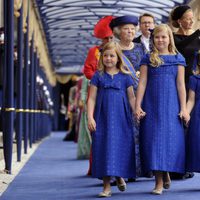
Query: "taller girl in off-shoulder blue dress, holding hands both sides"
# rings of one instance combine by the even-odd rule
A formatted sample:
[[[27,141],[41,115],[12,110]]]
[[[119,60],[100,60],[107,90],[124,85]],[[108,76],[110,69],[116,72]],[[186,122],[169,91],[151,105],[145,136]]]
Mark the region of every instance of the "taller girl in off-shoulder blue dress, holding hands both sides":
[[[184,82],[185,60],[175,48],[166,24],[153,31],[153,51],[141,61],[136,95],[140,120],[141,162],[144,172],[154,171],[153,194],[170,187],[168,172],[185,172],[182,119],[189,120]]]

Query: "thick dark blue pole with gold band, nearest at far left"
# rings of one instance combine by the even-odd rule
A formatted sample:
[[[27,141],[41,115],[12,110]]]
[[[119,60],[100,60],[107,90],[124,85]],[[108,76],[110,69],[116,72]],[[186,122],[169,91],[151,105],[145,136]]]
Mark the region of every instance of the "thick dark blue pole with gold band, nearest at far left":
[[[3,143],[5,171],[11,173],[14,131],[14,0],[4,0],[5,64],[3,70]]]

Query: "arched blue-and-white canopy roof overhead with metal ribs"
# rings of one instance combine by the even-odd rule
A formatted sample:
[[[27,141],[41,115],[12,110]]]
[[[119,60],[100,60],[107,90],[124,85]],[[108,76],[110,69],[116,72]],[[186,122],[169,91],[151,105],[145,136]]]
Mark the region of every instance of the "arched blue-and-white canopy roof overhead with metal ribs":
[[[170,10],[188,0],[36,0],[55,68],[83,66],[88,49],[98,44],[93,37],[96,22],[105,15],[139,16],[153,13],[158,22],[166,22]],[[81,9],[81,11],[80,11]],[[71,69],[71,68],[70,68]]]

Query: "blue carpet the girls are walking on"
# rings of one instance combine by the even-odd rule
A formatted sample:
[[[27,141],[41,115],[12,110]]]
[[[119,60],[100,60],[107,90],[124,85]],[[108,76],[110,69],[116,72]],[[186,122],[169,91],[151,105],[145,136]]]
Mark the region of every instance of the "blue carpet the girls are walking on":
[[[64,132],[55,132],[44,140],[0,200],[88,200],[97,199],[102,181],[87,177],[87,160],[76,160],[77,145],[63,142]],[[129,183],[126,192],[112,187],[110,199],[131,200],[199,200],[200,175],[192,179],[173,181],[163,195],[150,194],[153,179]]]

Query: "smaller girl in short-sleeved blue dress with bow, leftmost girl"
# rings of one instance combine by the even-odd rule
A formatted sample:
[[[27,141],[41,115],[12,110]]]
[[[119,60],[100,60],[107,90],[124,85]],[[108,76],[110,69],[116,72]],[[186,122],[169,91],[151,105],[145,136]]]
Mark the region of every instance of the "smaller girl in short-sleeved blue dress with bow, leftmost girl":
[[[88,99],[92,177],[103,179],[100,197],[111,196],[111,177],[116,177],[120,191],[126,189],[123,178],[135,177],[133,84],[132,76],[124,68],[118,44],[109,42],[102,50],[98,71],[91,79]]]

